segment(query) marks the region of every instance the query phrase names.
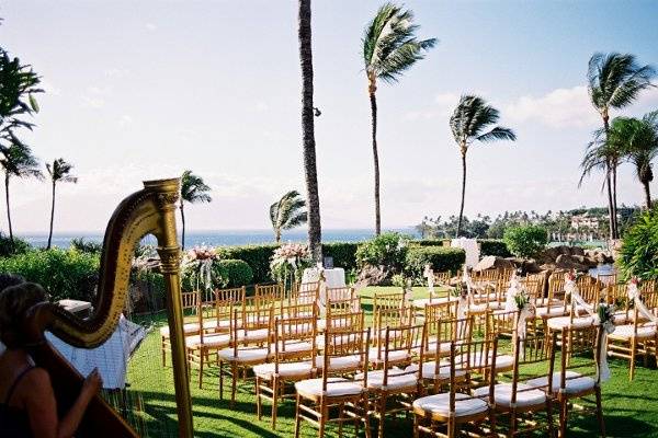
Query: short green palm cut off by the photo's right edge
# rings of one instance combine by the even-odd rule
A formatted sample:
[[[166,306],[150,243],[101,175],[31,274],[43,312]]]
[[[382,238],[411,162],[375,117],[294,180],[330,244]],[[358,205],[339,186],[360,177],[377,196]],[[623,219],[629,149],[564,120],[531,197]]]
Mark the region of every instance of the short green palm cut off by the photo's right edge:
[[[635,166],[635,173],[645,192],[647,209],[651,209],[649,185],[654,181],[651,162],[658,157],[658,111],[643,118],[615,117],[610,126],[609,142],[617,145]]]

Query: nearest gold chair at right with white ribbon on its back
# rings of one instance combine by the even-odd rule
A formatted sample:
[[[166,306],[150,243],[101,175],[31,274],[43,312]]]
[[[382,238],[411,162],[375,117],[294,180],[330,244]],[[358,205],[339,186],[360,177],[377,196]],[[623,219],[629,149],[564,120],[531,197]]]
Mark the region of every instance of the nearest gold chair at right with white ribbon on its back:
[[[563,328],[561,338],[568,337],[582,339],[571,348],[571,353],[579,356],[578,362],[568,364],[567,355],[557,355],[559,337],[553,333],[551,343],[551,369],[553,370],[552,387],[548,389],[548,376],[529,380],[531,387],[538,387],[548,391],[548,396],[554,399],[559,406],[559,436],[567,436],[568,410],[575,399],[594,395],[595,412],[601,436],[605,436],[603,411],[601,405],[601,373],[599,359],[602,345],[600,325],[585,327]],[[571,331],[572,333],[567,333]],[[557,362],[559,360],[559,364]],[[557,365],[557,366],[556,366]]]

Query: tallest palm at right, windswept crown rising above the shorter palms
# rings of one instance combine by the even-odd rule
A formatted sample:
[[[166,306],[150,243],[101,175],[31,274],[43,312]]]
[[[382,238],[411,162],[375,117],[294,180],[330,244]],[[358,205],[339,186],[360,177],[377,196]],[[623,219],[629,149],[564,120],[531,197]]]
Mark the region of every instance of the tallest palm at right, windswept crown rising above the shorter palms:
[[[592,105],[601,115],[608,138],[610,110],[631,105],[640,91],[651,87],[656,70],[651,66],[640,66],[631,54],[593,54],[587,71],[588,90]],[[610,235],[619,239],[616,219],[616,170],[619,162],[605,163],[608,187],[608,210],[610,214]]]

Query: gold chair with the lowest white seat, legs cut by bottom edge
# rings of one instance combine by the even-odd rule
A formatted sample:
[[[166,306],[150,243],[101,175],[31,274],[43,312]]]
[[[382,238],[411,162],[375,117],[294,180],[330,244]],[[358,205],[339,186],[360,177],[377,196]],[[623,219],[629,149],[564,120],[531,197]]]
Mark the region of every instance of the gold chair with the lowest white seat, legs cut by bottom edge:
[[[487,358],[488,354],[485,351],[492,351],[496,356],[497,348],[496,338],[450,343],[450,359],[439,373],[439,378],[450,387],[449,391],[413,401],[415,438],[421,433],[442,438],[453,438],[462,435],[461,433],[468,436],[469,431],[465,430],[467,427],[478,429],[479,434],[470,436],[484,435],[478,425],[489,417],[489,394],[469,395],[465,391],[468,388],[464,388],[464,382],[467,376],[476,374],[483,367],[486,368],[485,364],[474,364],[468,358]],[[487,381],[485,384],[484,388],[489,388]]]

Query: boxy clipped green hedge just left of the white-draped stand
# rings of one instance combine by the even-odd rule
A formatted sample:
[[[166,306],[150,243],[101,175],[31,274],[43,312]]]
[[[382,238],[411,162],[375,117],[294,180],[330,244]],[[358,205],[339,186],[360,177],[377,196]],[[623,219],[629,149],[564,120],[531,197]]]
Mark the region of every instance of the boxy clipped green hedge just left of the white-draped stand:
[[[405,270],[417,283],[423,283],[422,274],[429,263],[435,273],[462,268],[466,262],[466,252],[458,247],[421,246],[411,247],[406,256]]]

